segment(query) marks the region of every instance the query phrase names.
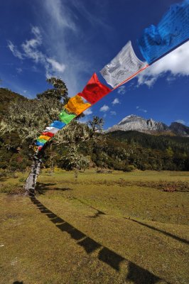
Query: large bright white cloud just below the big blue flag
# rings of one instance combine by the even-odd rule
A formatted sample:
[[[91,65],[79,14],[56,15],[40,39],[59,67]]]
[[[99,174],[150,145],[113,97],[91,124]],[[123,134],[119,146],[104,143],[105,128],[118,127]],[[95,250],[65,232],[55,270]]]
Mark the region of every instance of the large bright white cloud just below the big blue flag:
[[[184,43],[179,48],[176,48],[171,53],[153,63],[138,75],[138,87],[141,84],[146,84],[151,87],[158,77],[169,73],[168,80],[174,79],[175,76],[189,75],[189,41]],[[172,77],[171,77],[172,76]]]

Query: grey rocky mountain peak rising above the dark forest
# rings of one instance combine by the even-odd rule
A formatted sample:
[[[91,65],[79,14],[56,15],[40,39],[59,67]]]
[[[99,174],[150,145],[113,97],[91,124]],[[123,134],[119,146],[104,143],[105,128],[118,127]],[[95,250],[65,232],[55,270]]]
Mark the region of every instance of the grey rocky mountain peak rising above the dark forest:
[[[163,122],[154,121],[153,119],[144,119],[141,116],[131,114],[122,119],[107,132],[113,131],[139,131],[148,134],[170,134],[178,136],[189,136],[189,127],[178,122],[173,122],[171,126]]]

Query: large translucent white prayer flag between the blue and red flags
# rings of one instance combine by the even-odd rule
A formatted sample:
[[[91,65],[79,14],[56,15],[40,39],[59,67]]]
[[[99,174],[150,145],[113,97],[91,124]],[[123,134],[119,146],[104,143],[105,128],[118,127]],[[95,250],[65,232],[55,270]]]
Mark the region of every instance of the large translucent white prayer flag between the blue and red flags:
[[[122,82],[131,80],[144,67],[146,67],[146,63],[136,57],[131,41],[129,41],[100,72],[108,84],[117,87]]]

